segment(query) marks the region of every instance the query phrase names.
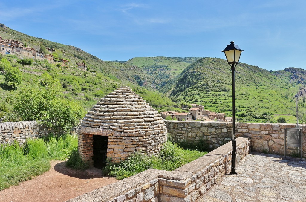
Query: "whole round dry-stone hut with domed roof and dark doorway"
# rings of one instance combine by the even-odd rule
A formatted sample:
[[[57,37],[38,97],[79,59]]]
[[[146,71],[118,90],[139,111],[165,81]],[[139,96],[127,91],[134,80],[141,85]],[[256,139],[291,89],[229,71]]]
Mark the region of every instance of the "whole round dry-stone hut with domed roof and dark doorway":
[[[158,155],[167,140],[160,114],[127,86],[91,107],[78,133],[79,154],[95,167],[103,167],[106,157],[116,163],[135,151]]]

